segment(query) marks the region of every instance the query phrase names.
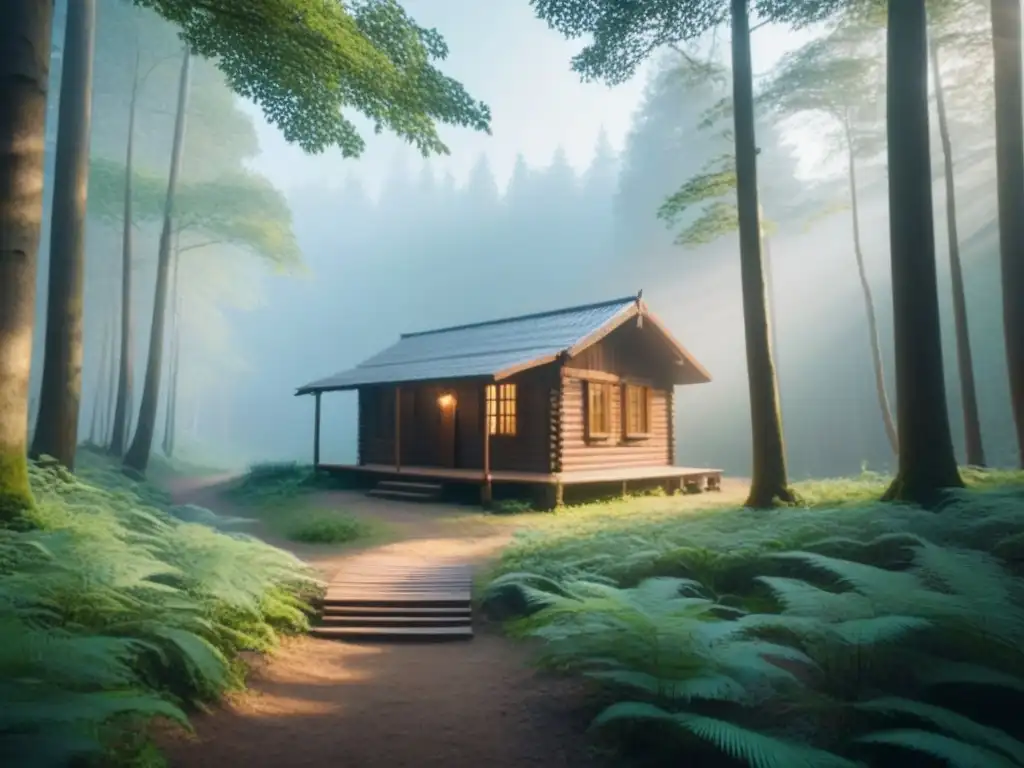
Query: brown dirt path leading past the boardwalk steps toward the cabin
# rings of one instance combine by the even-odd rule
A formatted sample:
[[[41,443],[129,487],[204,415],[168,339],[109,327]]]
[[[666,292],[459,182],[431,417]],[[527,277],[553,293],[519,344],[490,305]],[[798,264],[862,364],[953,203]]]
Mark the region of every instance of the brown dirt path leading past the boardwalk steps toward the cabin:
[[[222,479],[222,478],[215,478]],[[206,483],[172,488],[178,503],[225,514],[240,510]],[[396,528],[401,541],[380,548],[482,563],[508,532],[445,526],[441,510],[391,505],[354,494],[343,504]],[[451,508],[442,508],[451,516]],[[275,541],[330,573],[339,555]],[[181,768],[590,768],[579,686],[532,673],[529,651],[476,621],[470,642],[359,644],[298,638],[254,665],[250,688],[197,719],[198,738],[170,744]]]

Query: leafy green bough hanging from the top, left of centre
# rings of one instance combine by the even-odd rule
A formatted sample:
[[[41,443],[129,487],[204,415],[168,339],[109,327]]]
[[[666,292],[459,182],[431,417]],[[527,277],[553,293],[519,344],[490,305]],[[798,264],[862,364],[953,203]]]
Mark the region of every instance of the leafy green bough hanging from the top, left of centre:
[[[434,68],[447,51],[395,0],[135,0],[178,25],[239,95],[309,153],[365,146],[354,110],[424,155],[447,147],[436,124],[488,131],[489,110]]]

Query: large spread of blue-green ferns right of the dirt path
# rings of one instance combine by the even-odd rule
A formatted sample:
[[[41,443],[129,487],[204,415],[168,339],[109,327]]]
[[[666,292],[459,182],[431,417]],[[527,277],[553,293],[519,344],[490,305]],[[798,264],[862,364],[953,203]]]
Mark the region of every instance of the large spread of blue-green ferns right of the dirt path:
[[[602,686],[594,728],[648,764],[1019,768],[1024,476],[969,480],[937,512],[861,477],[767,512],[572,515],[484,603]]]

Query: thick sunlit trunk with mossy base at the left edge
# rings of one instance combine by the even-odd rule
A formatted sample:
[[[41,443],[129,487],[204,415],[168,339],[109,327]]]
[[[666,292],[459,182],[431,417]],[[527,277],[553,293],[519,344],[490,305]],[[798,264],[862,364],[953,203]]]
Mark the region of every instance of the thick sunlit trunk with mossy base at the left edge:
[[[26,443],[43,216],[53,4],[5,0],[0,23],[0,524],[32,506]]]

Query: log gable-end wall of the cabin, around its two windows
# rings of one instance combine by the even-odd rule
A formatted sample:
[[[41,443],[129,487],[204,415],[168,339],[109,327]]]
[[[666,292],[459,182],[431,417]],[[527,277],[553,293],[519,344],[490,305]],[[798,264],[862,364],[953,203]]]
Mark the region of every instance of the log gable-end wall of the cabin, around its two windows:
[[[561,386],[561,451],[563,472],[616,467],[671,466],[675,462],[674,388],[665,349],[658,349],[656,331],[621,326],[604,339],[565,364]],[[588,440],[586,431],[586,377],[596,374],[612,384],[611,432],[606,438]],[[623,388],[626,382],[650,387],[650,429],[646,437],[625,436]]]

